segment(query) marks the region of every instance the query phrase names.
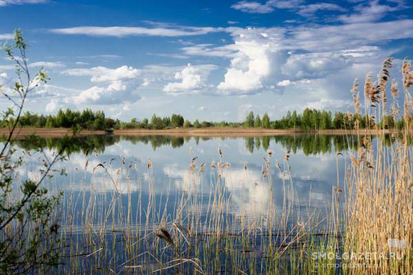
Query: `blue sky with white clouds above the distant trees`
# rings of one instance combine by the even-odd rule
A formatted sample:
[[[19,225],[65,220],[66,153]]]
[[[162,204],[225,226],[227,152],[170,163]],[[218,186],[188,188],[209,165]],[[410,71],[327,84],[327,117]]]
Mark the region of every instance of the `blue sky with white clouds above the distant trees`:
[[[26,111],[103,110],[121,120],[180,113],[189,120],[271,119],[306,107],[352,110],[392,56],[413,58],[413,1],[0,0],[0,41],[20,28],[36,88]],[[0,85],[15,80],[2,53]],[[401,85],[399,85],[401,87]],[[10,101],[0,98],[5,110]]]

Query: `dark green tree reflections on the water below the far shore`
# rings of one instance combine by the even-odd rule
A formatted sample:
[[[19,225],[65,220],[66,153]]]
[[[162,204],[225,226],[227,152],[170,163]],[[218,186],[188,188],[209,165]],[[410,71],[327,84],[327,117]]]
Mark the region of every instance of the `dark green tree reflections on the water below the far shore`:
[[[174,137],[169,135],[145,135],[145,136],[117,136],[117,135],[85,135],[78,137],[37,137],[31,135],[22,140],[14,140],[12,143],[26,150],[39,150],[41,148],[57,149],[65,145],[65,153],[103,153],[105,146],[111,146],[120,140],[126,140],[132,144],[151,144],[153,150],[160,146],[171,146],[178,148],[184,143],[195,139],[211,140],[211,137]],[[362,137],[361,137],[362,138]],[[389,146],[394,140],[400,137],[384,135],[380,137],[383,145]],[[2,140],[0,139],[0,142]],[[270,143],[280,144],[286,150],[296,153],[303,151],[305,155],[318,153],[331,153],[332,151],[346,151],[348,148],[357,148],[358,137],[355,135],[276,135],[273,137],[246,137],[244,138],[246,150],[250,153],[260,147],[267,151]],[[413,144],[412,136],[407,137],[407,144]]]

